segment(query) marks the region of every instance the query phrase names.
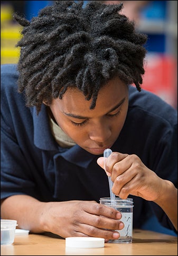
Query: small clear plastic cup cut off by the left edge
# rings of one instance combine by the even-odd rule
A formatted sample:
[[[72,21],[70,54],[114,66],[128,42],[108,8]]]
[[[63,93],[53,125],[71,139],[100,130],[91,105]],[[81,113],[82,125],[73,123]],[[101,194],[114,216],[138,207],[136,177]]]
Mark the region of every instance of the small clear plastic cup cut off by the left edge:
[[[1,245],[14,243],[16,226],[14,219],[1,219]]]

